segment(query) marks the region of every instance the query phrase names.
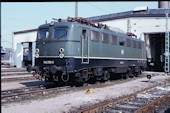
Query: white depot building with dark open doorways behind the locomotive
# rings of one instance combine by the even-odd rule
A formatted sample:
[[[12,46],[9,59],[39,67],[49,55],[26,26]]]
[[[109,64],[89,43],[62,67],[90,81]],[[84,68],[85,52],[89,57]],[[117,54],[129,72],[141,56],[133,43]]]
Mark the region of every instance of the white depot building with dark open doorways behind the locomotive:
[[[86,18],[133,33],[146,42],[147,59],[153,71],[170,72],[170,9],[149,9],[146,6],[131,11]],[[169,25],[168,25],[169,24]],[[14,65],[34,66],[37,29],[17,31],[13,34]]]

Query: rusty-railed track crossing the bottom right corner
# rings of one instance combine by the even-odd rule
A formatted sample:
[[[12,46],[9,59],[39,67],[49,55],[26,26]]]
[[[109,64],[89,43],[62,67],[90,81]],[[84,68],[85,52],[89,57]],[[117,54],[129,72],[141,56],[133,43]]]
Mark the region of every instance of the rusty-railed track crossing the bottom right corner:
[[[163,113],[170,108],[170,85],[144,89],[135,94],[79,108],[78,113]]]

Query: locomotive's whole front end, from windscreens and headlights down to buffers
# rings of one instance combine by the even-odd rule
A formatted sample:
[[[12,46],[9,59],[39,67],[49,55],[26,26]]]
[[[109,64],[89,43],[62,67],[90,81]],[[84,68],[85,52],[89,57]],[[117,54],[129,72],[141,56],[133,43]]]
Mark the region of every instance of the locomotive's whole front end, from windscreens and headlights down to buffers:
[[[70,57],[70,43],[72,43],[72,23],[52,22],[38,28],[35,65],[39,67],[39,75],[45,81],[69,80],[68,56]]]

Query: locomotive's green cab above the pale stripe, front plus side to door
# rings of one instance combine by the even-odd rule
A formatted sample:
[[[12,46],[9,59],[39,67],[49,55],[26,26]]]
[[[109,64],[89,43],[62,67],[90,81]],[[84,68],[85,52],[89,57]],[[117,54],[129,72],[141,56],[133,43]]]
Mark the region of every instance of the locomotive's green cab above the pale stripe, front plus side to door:
[[[86,39],[86,30],[79,33],[75,23],[56,22],[38,28],[36,48],[39,56],[59,56],[60,49],[66,56],[79,56],[81,36]]]

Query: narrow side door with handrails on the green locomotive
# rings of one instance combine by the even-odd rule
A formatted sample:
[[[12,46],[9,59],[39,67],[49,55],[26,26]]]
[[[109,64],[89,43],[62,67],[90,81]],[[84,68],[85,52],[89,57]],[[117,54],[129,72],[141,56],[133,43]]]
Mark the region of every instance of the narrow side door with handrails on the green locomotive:
[[[89,29],[81,29],[81,64],[89,64]]]

